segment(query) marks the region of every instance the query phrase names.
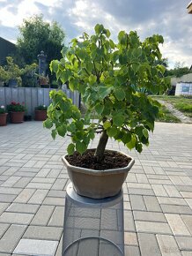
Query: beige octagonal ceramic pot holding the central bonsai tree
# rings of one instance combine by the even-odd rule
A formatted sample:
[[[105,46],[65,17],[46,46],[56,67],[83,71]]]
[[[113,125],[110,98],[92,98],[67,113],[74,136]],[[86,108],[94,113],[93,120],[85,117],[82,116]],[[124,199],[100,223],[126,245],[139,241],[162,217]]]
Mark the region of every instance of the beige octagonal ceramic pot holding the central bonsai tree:
[[[124,155],[130,159],[130,162],[126,167],[119,169],[95,170],[73,166],[66,160],[66,155],[62,160],[67,168],[70,181],[79,195],[92,199],[103,199],[112,197],[121,191],[122,184],[135,162],[128,154]]]

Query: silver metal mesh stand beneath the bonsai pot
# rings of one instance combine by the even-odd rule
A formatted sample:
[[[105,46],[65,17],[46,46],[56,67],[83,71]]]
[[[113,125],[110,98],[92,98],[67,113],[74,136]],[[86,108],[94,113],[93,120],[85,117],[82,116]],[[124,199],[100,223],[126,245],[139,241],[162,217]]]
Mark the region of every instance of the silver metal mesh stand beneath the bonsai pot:
[[[122,192],[93,200],[67,187],[63,256],[124,256]]]

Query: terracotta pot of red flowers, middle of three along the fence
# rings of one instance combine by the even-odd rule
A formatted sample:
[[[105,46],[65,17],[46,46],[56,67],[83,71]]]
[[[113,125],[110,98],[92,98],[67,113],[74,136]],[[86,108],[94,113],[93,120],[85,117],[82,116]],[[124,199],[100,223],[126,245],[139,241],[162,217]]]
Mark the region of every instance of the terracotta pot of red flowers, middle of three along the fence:
[[[26,111],[24,103],[11,102],[11,104],[7,105],[7,110],[10,113],[11,123],[19,124],[24,122],[24,114]]]

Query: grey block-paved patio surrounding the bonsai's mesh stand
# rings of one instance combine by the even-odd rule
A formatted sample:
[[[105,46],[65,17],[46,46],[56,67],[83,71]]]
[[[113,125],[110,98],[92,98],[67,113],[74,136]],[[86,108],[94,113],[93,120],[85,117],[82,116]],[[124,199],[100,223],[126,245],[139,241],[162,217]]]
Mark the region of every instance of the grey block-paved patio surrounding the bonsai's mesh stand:
[[[0,127],[0,256],[61,256],[66,146],[41,122]],[[113,141],[108,147],[127,151]],[[191,256],[192,124],[158,123],[150,147],[130,154],[125,255]]]

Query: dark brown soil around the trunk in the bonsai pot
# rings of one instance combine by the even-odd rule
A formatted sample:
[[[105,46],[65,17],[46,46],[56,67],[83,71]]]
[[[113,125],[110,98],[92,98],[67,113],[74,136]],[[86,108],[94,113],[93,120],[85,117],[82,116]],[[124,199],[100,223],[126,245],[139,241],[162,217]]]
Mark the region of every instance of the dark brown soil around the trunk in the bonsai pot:
[[[124,154],[106,150],[102,162],[96,162],[94,152],[95,149],[89,149],[84,154],[75,152],[72,155],[67,155],[65,158],[71,165],[86,169],[118,169],[126,167],[131,161]]]

